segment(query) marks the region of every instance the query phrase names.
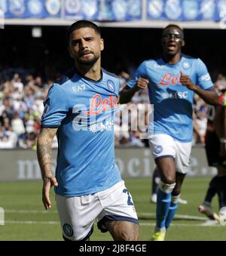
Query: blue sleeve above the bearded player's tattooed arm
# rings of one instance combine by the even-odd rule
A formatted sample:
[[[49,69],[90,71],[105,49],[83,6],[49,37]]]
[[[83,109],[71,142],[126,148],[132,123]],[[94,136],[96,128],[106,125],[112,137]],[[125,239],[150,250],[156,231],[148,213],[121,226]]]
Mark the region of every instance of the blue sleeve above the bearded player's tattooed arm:
[[[69,110],[66,91],[60,85],[50,87],[44,100],[44,113],[41,117],[41,128],[58,128]]]

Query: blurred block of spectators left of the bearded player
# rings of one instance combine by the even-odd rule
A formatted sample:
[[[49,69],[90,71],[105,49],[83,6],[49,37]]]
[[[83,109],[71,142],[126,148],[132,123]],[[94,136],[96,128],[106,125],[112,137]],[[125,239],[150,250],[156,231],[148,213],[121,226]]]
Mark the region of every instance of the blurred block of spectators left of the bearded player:
[[[0,149],[36,148],[43,100],[52,84],[15,73],[0,85]]]

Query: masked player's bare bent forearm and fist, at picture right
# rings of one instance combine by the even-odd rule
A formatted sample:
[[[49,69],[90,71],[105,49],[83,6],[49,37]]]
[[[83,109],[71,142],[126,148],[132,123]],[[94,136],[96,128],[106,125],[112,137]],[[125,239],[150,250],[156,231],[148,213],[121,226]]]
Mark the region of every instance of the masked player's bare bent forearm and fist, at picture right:
[[[200,86],[194,85],[189,76],[186,76],[181,72],[180,82],[185,85],[189,90],[198,94],[209,105],[216,105],[218,103],[218,94],[214,88],[211,90],[203,90]]]

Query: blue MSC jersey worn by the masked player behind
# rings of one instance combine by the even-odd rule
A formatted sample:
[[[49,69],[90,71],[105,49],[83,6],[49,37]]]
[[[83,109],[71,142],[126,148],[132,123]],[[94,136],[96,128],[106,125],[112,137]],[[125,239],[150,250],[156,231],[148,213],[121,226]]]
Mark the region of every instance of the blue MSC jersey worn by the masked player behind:
[[[149,98],[154,105],[154,134],[169,134],[181,142],[190,142],[194,91],[180,84],[180,72],[204,90],[213,86],[203,61],[185,55],[173,65],[162,58],[144,61],[127,85],[133,88],[139,77],[148,79]]]

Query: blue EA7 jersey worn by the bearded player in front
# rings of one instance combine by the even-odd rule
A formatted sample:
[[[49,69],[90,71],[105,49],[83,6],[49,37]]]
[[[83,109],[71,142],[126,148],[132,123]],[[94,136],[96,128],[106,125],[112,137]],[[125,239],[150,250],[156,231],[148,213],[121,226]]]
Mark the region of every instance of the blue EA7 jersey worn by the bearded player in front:
[[[98,82],[73,70],[48,91],[41,128],[58,128],[57,194],[88,195],[121,180],[114,136],[118,91],[118,77],[104,69]]]

